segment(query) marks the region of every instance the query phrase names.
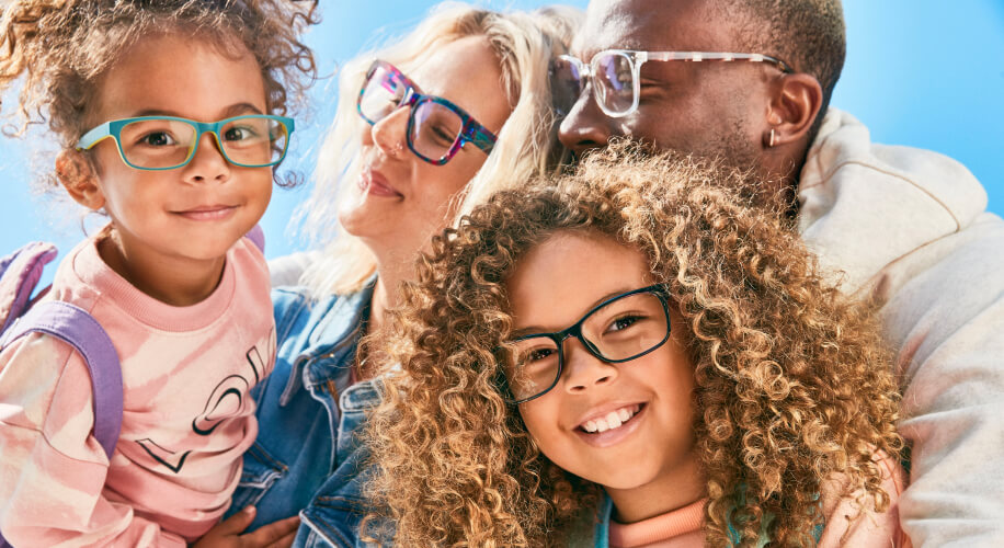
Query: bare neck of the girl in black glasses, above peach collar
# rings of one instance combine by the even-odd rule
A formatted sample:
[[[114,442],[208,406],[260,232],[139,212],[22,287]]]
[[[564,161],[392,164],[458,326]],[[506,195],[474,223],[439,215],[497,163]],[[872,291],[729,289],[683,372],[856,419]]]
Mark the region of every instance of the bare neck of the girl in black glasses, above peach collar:
[[[707,496],[704,473],[694,461],[637,488],[604,489],[614,502],[614,520],[619,523],[655,517]]]

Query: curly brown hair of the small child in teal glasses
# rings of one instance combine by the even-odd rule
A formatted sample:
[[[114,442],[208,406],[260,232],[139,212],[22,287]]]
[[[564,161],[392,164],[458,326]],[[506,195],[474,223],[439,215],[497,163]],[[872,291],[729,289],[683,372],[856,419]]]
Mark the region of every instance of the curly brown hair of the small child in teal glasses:
[[[20,127],[48,123],[71,148],[93,117],[101,78],[142,36],[183,33],[232,54],[243,44],[261,66],[271,113],[297,105],[316,78],[299,41],[319,21],[317,0],[14,0],[0,8],[0,91],[18,81]],[[55,184],[54,176],[46,183]]]

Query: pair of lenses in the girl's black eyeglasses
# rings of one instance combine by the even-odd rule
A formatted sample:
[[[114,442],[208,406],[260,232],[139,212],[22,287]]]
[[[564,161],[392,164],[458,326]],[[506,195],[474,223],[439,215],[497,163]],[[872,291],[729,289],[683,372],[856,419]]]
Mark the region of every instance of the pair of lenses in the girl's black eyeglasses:
[[[591,353],[607,362],[632,359],[661,345],[670,324],[662,300],[636,293],[607,302],[583,318],[582,339]],[[548,391],[562,369],[562,353],[551,336],[530,336],[512,344],[506,377],[516,400]]]

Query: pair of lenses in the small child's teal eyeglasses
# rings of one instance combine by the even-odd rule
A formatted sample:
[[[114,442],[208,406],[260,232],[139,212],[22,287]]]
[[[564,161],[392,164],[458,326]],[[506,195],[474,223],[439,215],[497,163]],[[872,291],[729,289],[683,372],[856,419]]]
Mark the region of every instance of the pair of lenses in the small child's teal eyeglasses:
[[[119,145],[126,161],[137,168],[179,167],[194,153],[198,129],[178,119],[148,118],[123,126]],[[226,159],[244,167],[278,162],[286,149],[286,126],[264,116],[242,116],[219,128],[219,146]]]

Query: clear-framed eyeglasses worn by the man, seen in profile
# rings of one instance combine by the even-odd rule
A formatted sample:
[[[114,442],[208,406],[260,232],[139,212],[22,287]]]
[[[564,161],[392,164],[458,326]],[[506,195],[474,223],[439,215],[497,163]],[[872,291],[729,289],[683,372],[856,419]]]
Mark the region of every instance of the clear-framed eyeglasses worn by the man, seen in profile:
[[[605,49],[594,55],[589,64],[571,55],[560,55],[551,64],[555,103],[559,112],[570,112],[582,93],[592,89],[596,104],[607,116],[619,118],[634,113],[638,110],[641,66],[648,61],[766,62],[786,75],[795,72],[791,65],[764,54]]]

